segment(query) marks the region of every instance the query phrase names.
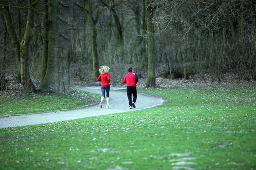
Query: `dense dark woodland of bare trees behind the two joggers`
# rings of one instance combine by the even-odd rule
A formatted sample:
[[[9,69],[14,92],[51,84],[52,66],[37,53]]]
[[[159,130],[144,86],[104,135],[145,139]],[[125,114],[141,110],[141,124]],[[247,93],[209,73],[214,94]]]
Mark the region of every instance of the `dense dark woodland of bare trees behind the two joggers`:
[[[0,0],[0,89],[156,77],[256,80],[256,0]]]

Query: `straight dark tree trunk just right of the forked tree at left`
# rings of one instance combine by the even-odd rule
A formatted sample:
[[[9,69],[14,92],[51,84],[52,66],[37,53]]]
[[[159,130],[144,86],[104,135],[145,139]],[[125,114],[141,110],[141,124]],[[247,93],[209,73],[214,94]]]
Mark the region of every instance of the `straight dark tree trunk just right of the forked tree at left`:
[[[49,84],[47,84],[45,75],[47,71],[48,65],[48,31],[49,31],[49,23],[48,23],[48,0],[43,1],[43,47],[42,47],[42,60],[41,60],[41,72],[40,72],[40,90],[47,90]]]

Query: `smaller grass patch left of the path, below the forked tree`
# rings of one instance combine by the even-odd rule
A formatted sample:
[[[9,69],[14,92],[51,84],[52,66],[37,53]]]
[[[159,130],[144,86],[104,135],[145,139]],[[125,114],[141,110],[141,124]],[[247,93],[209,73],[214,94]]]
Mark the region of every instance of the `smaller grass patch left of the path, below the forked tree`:
[[[79,90],[72,90],[72,94],[76,94],[80,99],[60,93],[20,93],[10,95],[8,98],[2,96],[0,97],[0,116],[72,109],[95,103],[98,97]]]

